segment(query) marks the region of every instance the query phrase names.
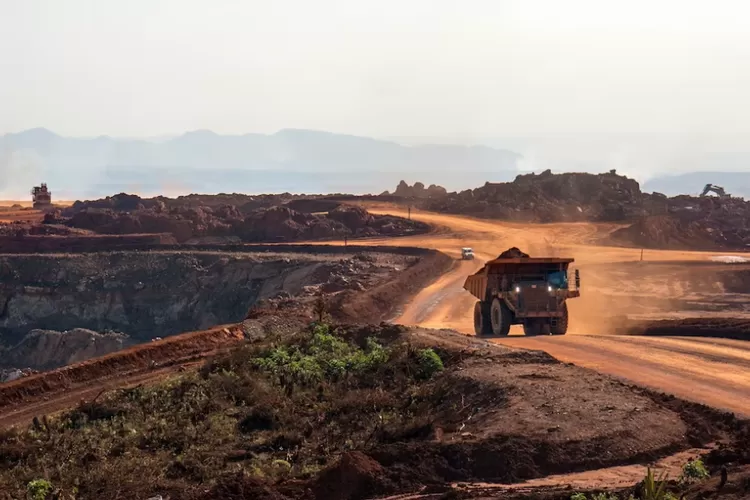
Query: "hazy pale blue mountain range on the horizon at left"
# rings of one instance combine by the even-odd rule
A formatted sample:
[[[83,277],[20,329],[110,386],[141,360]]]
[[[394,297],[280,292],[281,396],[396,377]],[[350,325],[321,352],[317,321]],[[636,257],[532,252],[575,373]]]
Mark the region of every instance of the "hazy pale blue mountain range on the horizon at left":
[[[0,198],[47,182],[57,199],[120,191],[377,193],[421,180],[466,189],[512,179],[520,155],[486,146],[419,145],[312,130],[188,132],[171,139],[61,137],[36,128],[0,137]]]

